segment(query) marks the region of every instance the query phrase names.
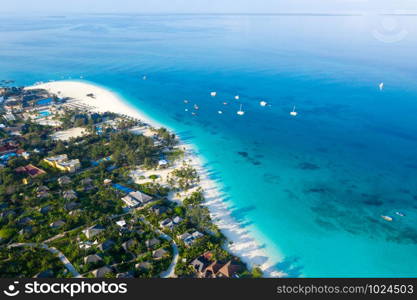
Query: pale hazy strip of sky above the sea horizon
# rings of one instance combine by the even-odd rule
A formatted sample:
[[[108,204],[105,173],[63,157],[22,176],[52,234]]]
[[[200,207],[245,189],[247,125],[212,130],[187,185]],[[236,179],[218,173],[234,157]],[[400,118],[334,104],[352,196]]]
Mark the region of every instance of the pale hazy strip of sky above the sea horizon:
[[[417,10],[417,0],[3,0],[0,13],[279,13]]]

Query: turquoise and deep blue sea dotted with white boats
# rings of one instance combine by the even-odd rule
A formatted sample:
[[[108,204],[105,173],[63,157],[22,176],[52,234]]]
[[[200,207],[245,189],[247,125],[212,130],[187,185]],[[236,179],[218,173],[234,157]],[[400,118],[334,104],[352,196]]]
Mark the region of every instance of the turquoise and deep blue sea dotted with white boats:
[[[82,76],[175,129],[289,276],[415,277],[412,18],[386,43],[363,16],[1,16],[0,79]]]

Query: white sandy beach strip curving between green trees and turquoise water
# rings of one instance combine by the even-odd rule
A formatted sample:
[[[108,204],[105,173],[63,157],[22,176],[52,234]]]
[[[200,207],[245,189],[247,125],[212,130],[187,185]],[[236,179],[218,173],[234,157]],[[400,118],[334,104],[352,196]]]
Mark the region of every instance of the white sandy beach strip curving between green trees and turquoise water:
[[[152,127],[165,127],[176,133],[172,128],[163,126],[138,108],[126,103],[127,101],[122,96],[96,83],[66,80],[27,87],[27,89],[37,88],[48,90],[51,94],[59,97],[73,98],[77,103],[88,107],[91,111],[127,115]],[[94,98],[87,96],[90,93],[94,94]],[[271,255],[268,255],[253,235],[234,220],[230,207],[224,200],[219,188],[219,183],[210,179],[209,171],[204,167],[204,159],[199,154],[197,147],[190,143],[184,143],[180,136],[178,138],[180,140],[179,146],[186,150],[184,159],[188,160],[200,175],[199,186],[203,189],[206,199],[203,205],[209,209],[213,223],[219,227],[229,241],[225,248],[240,257],[250,269],[259,267],[264,272],[264,277],[285,277],[285,273],[279,272],[274,267],[279,261],[275,261]]]

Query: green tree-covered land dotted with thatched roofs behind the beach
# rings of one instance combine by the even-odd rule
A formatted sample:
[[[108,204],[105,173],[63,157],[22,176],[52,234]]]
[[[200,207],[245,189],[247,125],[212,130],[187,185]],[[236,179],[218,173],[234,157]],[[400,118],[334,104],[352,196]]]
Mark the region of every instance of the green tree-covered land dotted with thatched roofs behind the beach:
[[[42,90],[37,93],[28,99],[50,96]],[[6,94],[26,97],[22,89],[10,89]],[[197,171],[184,161],[174,168],[185,158],[174,134],[148,127],[154,136],[134,134],[129,129],[146,125],[113,113],[60,107],[61,100],[53,99],[59,113],[52,117],[61,122],[59,128],[16,113],[16,120],[6,121],[0,129],[0,146],[14,153],[0,168],[0,276],[33,277],[41,272],[46,272],[42,276],[72,276],[54,254],[40,248],[43,244],[61,251],[84,277],[94,277],[94,271],[104,266],[112,270],[105,277],[125,272],[134,277],[158,277],[173,259],[173,243],[179,248],[175,271],[180,277],[195,276],[190,262],[207,251],[213,259],[233,258],[222,248],[226,239],[202,205]],[[36,105],[34,100],[19,101],[28,113]],[[10,134],[9,127],[19,128],[20,135]],[[51,138],[55,131],[74,127],[83,127],[87,134],[68,141]],[[44,160],[61,154],[78,159],[80,168],[69,173]],[[157,175],[161,159],[168,160],[170,168],[166,182]],[[44,172],[21,171],[28,165]],[[138,167],[155,174],[143,176],[149,181],[137,184],[130,174]],[[152,199],[136,208],[126,207],[122,198],[126,201],[130,190]],[[188,196],[176,203],[168,200],[170,192]],[[100,230],[86,234],[94,226]],[[185,243],[181,236],[191,233],[198,233],[198,238]],[[262,275],[256,270],[242,274]]]

